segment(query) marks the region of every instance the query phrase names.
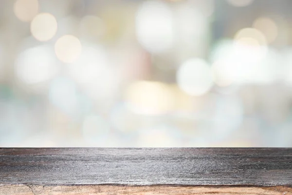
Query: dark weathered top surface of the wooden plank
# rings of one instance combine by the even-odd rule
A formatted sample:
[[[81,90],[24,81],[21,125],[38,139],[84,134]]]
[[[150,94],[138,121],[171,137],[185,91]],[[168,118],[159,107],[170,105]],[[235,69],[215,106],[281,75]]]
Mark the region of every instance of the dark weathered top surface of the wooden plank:
[[[291,148],[0,148],[0,184],[292,186]]]

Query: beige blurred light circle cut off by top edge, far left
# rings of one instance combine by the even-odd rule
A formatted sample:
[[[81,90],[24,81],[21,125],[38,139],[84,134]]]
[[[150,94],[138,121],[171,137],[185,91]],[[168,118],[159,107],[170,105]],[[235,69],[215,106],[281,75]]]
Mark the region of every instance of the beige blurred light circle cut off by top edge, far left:
[[[17,0],[13,8],[19,20],[28,22],[33,20],[38,13],[38,0]]]

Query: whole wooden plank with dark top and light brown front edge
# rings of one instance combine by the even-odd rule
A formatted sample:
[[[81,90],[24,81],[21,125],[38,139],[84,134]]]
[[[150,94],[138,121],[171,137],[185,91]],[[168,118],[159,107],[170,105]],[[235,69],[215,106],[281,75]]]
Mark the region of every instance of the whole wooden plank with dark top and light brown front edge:
[[[291,148],[0,148],[0,195],[290,195],[291,189]]]

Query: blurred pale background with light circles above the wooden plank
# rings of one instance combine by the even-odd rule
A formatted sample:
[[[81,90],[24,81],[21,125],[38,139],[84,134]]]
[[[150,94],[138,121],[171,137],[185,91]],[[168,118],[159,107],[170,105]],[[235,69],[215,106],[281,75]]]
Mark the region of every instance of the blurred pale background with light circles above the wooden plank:
[[[291,0],[1,0],[0,147],[292,147]]]

